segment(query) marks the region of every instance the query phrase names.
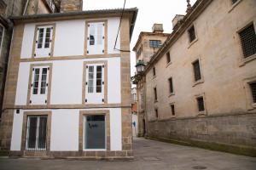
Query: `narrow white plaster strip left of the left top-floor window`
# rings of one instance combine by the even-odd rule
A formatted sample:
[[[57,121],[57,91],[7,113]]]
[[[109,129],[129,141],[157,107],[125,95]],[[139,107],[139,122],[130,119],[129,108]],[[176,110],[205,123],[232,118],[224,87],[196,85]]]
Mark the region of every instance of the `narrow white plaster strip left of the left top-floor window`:
[[[35,24],[26,24],[24,27],[22,46],[21,46],[21,59],[32,58],[32,47],[34,40]]]

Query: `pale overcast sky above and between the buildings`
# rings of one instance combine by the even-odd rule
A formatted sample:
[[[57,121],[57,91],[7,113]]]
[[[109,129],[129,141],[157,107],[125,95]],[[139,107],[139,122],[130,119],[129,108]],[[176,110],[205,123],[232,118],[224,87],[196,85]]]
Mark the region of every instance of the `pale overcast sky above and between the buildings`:
[[[195,0],[191,0],[191,5]],[[104,9],[104,8],[123,8],[124,0],[84,0],[84,10]],[[137,7],[138,15],[135,29],[131,39],[131,50],[137,42],[141,31],[152,31],[154,23],[164,26],[166,33],[172,32],[172,19],[175,14],[185,14],[187,0],[126,0],[125,8]],[[135,53],[131,51],[131,76],[136,71],[134,65]]]

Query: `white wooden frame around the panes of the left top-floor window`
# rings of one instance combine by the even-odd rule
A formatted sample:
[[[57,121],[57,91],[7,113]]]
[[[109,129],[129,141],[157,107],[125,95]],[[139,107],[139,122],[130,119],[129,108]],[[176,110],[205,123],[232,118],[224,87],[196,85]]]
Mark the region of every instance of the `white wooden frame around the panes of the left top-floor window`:
[[[40,42],[39,40],[39,31],[43,29],[43,37],[42,37],[42,46],[41,48],[38,48],[38,43]],[[46,43],[46,31],[50,29],[50,32],[49,32],[49,47],[45,47]],[[37,26],[37,29],[36,29],[36,33],[35,33],[35,36],[36,36],[36,42],[34,43],[34,54],[33,54],[33,57],[35,58],[42,58],[42,57],[50,57],[52,56],[52,51],[51,51],[51,48],[52,48],[52,42],[53,42],[53,32],[54,32],[54,26],[53,25],[49,25],[49,26]]]

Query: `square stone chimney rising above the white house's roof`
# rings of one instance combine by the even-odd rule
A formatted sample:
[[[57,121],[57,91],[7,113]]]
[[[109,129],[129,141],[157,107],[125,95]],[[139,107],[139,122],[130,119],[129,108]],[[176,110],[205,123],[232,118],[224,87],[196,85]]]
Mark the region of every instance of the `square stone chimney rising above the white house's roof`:
[[[61,13],[83,10],[83,0],[61,0]]]

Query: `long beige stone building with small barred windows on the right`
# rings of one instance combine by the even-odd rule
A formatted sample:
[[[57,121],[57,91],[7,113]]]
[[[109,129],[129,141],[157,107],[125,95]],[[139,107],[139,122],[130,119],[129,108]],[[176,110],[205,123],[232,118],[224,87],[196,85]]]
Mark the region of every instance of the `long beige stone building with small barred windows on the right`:
[[[255,156],[256,1],[198,0],[172,23],[138,82],[148,136]]]

